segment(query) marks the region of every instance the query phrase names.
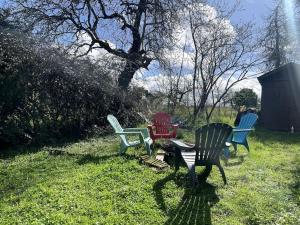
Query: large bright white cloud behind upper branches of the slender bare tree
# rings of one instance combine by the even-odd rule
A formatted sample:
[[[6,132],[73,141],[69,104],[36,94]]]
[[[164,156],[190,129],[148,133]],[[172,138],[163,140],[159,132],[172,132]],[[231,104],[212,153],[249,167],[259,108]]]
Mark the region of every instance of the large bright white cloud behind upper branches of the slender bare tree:
[[[199,34],[196,40],[196,44],[200,48],[203,45],[200,42],[212,38],[215,32],[220,32],[220,35],[230,40],[234,39],[236,35],[230,21],[218,17],[218,12],[215,8],[202,3],[190,5],[181,12],[181,21],[174,31],[176,41],[173,48],[161,50],[163,57],[174,68],[180,67],[182,62],[184,68],[191,70],[194,66],[195,48],[190,28],[190,14],[192,14],[192,23],[194,23],[194,26],[196,26],[195,24],[202,24],[197,28]]]

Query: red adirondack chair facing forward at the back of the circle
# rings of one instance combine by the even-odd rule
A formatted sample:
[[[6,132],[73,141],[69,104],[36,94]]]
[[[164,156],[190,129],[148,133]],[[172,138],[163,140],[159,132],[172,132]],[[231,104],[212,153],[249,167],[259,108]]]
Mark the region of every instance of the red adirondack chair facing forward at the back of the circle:
[[[176,138],[177,124],[171,124],[171,116],[164,112],[158,112],[153,117],[153,124],[148,125],[150,137],[153,143],[159,138]]]

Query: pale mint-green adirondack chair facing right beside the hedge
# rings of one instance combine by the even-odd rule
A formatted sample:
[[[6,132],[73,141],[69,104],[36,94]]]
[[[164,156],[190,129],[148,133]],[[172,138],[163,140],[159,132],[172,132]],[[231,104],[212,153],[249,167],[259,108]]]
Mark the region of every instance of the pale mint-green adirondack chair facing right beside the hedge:
[[[122,128],[119,121],[113,115],[108,115],[107,120],[110,125],[114,128],[116,134],[119,135],[121,139],[120,143],[120,154],[124,154],[129,147],[135,147],[138,145],[144,145],[147,150],[148,155],[151,155],[151,145],[153,143],[150,138],[147,128]],[[129,141],[128,135],[137,135],[139,140]]]

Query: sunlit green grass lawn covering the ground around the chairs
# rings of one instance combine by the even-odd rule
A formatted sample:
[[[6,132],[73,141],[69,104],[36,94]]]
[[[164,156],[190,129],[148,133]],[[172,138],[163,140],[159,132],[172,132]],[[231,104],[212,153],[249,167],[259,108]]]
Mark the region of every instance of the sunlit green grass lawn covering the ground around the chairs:
[[[184,133],[193,141],[193,135]],[[300,134],[255,131],[197,190],[187,169],[156,172],[118,139],[18,149],[0,157],[0,224],[300,224]],[[66,151],[69,154],[50,154]]]

